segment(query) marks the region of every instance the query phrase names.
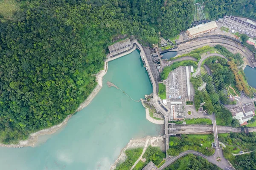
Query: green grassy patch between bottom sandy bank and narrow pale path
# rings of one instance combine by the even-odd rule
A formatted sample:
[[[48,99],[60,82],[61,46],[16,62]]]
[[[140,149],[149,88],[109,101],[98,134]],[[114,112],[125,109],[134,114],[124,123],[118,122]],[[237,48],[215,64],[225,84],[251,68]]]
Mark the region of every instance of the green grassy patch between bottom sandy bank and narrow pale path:
[[[137,159],[142,154],[143,148],[125,150],[127,159],[116,166],[116,170],[130,170],[132,165],[137,161]]]

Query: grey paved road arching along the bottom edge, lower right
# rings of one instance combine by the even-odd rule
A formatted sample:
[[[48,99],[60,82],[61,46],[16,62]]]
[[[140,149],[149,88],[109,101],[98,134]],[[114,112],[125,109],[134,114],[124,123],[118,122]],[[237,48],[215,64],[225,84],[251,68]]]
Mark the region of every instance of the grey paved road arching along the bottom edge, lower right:
[[[203,155],[197,151],[194,151],[194,150],[188,150],[183,153],[180,153],[180,155],[178,155],[178,156],[168,158],[166,160],[166,162],[159,168],[159,170],[163,170],[164,168],[168,167],[170,164],[175,162],[177,159],[179,159],[187,154],[190,154],[190,153],[192,153],[193,155],[201,156],[201,157],[207,159],[207,161],[211,162],[212,164],[217,165],[218,167],[220,167],[223,170],[231,170],[230,165],[228,164],[227,160],[224,159],[224,157],[222,157],[221,162],[218,162],[218,161],[216,161],[217,157],[215,158],[215,156],[214,156],[215,154],[213,154],[213,156],[205,156],[205,155]]]

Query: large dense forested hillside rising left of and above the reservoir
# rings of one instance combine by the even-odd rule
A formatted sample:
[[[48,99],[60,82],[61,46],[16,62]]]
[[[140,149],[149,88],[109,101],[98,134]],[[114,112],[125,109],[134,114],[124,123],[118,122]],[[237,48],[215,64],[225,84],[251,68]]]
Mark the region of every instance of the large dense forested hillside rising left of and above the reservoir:
[[[0,23],[0,142],[58,124],[96,86],[116,35],[157,43],[190,25],[193,0],[28,0]],[[25,5],[24,5],[25,4]]]

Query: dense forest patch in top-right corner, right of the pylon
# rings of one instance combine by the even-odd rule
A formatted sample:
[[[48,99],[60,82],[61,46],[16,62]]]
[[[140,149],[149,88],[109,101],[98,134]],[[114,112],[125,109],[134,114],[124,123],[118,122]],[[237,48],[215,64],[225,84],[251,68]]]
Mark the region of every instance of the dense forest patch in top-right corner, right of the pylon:
[[[209,13],[209,19],[218,19],[224,14],[244,16],[256,19],[255,0],[205,0],[204,11]]]

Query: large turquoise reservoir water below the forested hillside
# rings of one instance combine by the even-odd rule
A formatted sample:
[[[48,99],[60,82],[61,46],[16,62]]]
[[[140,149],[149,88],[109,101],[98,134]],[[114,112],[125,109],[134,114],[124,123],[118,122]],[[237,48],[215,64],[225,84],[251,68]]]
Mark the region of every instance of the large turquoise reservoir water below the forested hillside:
[[[104,78],[135,100],[152,92],[138,51],[109,62]],[[93,101],[58,133],[41,136],[39,146],[1,147],[0,170],[108,170],[131,138],[160,128],[146,120],[141,103],[103,82]]]

